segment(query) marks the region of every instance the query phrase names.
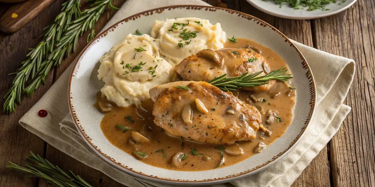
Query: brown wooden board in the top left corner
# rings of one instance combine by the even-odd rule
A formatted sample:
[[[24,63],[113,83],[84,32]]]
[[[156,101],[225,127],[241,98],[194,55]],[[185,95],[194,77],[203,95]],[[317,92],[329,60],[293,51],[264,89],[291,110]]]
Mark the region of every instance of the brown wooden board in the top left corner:
[[[0,17],[0,31],[15,33],[55,0],[28,0],[12,4]],[[2,5],[5,3],[2,3]],[[6,4],[9,6],[9,4]],[[15,14],[17,17],[15,17]]]

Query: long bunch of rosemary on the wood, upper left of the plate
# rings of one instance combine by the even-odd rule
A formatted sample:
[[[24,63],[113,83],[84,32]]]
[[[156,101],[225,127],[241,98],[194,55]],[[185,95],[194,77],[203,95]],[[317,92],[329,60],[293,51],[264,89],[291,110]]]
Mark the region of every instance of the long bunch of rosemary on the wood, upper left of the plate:
[[[63,3],[62,12],[56,16],[52,24],[44,28],[46,32],[42,35],[42,41],[30,49],[26,55],[27,59],[21,63],[22,66],[12,73],[16,74],[16,77],[4,95],[6,99],[3,112],[14,112],[17,103],[21,103],[23,93],[30,96],[45,83],[45,77],[51,68],[60,65],[62,59],[68,57],[72,50],[77,50],[78,38],[83,33],[90,30],[87,42],[94,38],[94,24],[105,7],[118,9],[111,4],[111,0],[97,0],[92,3],[92,8],[81,12],[80,2],[81,0],[68,0]],[[31,80],[25,88],[25,83],[30,77]]]

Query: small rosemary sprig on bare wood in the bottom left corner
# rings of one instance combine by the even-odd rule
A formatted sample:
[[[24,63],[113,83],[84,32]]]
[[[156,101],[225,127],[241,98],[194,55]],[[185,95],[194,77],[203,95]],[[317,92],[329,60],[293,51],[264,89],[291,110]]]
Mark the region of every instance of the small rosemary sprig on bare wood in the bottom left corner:
[[[48,160],[43,159],[38,154],[35,155],[33,152],[30,153],[31,156],[28,156],[27,159],[34,161],[36,165],[25,163],[27,168],[24,168],[18,166],[15,163],[9,162],[10,165],[7,165],[5,167],[31,174],[31,177],[43,178],[48,183],[59,187],[93,187],[82,177],[80,177],[79,175],[75,175],[72,171],[69,171],[70,173],[67,173],[60,169],[58,166],[55,166],[52,163],[48,162]]]

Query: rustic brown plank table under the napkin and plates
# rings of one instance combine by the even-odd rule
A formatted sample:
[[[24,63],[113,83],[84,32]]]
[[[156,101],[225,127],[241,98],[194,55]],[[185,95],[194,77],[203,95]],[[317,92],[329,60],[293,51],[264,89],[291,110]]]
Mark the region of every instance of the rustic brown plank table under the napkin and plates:
[[[113,0],[120,7],[125,0]],[[216,0],[206,0],[215,5]],[[25,59],[27,48],[39,43],[42,29],[60,12],[64,0],[56,0],[50,7],[12,35],[0,34],[0,90],[3,96],[10,87],[14,72]],[[344,120],[338,133],[293,186],[375,186],[375,0],[359,0],[352,7],[334,16],[314,20],[291,20],[267,15],[245,0],[223,0],[229,9],[254,15],[276,27],[289,38],[305,45],[345,56],[357,62],[354,82],[344,104],[352,112]],[[3,4],[0,4],[2,7]],[[1,9],[1,8],[0,8]],[[99,31],[114,15],[107,10],[96,23]],[[87,36],[87,34],[86,34]],[[81,37],[77,51],[86,46]],[[29,151],[40,154],[60,168],[72,170],[93,186],[121,186],[111,178],[67,156],[18,125],[18,120],[51,87],[69,66],[78,52],[51,70],[46,83],[30,97],[24,96],[15,113],[1,114],[0,126],[0,186],[44,187],[44,180],[24,178],[24,174],[4,166],[7,161],[23,165]],[[2,106],[3,102],[1,102]]]

